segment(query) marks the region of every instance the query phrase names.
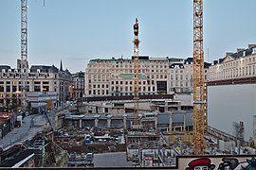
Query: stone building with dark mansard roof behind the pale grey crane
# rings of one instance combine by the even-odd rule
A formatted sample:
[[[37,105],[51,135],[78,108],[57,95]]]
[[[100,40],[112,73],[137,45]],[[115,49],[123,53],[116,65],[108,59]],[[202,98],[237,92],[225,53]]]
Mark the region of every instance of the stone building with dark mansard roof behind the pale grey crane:
[[[57,93],[56,106],[60,106],[69,98],[68,87],[72,83],[69,71],[59,70],[54,65],[32,65],[26,76],[27,92]],[[12,69],[7,65],[0,65],[0,106],[21,106],[22,79],[19,68]]]

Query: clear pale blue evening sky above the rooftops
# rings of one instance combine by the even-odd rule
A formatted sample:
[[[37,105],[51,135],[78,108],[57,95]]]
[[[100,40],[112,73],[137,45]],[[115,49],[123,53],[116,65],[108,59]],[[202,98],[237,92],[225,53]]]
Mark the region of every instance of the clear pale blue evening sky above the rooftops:
[[[84,71],[89,59],[192,57],[192,0],[27,0],[29,65]],[[0,64],[21,58],[21,2],[0,1]],[[204,1],[205,60],[256,44],[255,0]]]

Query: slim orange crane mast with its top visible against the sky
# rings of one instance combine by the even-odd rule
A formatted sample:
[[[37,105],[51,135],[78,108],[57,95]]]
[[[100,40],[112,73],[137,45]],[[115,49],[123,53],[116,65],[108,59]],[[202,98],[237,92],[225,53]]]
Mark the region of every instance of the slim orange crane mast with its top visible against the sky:
[[[139,92],[138,92],[138,72],[139,72],[139,60],[138,60],[138,20],[136,18],[136,24],[134,25],[134,101],[135,101],[135,115],[136,115],[136,121],[135,125],[139,124],[138,120],[138,100],[139,100]]]

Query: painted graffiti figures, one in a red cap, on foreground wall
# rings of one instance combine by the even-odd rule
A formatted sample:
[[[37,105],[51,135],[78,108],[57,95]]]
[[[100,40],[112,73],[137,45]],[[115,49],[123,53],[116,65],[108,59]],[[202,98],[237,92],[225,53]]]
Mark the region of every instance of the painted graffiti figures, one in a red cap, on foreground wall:
[[[235,158],[223,158],[219,164],[214,164],[209,158],[194,159],[188,163],[186,170],[256,170],[256,159],[238,161]]]

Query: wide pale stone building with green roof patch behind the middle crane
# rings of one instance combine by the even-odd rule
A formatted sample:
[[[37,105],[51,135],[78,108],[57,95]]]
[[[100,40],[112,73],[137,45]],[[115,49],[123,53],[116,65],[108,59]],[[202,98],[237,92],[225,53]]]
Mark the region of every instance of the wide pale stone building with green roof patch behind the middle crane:
[[[139,93],[169,93],[167,58],[139,57]],[[85,96],[133,95],[133,59],[91,59],[85,69]]]

